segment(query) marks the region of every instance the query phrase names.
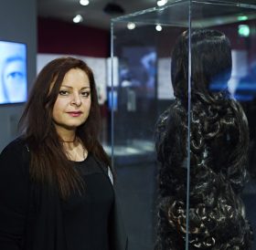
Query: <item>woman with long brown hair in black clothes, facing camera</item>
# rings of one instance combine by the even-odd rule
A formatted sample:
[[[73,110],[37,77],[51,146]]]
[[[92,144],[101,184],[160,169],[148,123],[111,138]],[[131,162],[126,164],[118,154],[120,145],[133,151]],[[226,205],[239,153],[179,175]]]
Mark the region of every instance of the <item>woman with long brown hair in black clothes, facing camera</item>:
[[[41,70],[23,134],[0,155],[0,249],[127,249],[99,112],[83,61],[62,57]]]

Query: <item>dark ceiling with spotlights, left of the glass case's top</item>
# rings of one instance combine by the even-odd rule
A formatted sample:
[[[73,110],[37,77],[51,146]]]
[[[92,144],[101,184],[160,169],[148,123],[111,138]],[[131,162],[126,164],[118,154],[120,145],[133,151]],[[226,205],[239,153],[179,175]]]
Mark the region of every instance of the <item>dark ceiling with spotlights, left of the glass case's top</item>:
[[[109,29],[111,18],[156,6],[156,0],[90,0],[90,4],[86,6],[79,2],[80,0],[37,0],[37,15],[65,22],[72,22],[74,16],[81,15],[81,25]],[[109,3],[122,6],[124,14],[105,13],[103,9]]]

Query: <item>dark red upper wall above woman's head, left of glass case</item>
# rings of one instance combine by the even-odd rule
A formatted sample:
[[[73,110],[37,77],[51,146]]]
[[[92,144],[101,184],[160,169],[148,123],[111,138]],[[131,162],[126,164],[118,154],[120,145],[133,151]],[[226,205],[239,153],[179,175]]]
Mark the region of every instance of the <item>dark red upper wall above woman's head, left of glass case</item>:
[[[108,30],[39,17],[37,32],[38,53],[110,56]]]

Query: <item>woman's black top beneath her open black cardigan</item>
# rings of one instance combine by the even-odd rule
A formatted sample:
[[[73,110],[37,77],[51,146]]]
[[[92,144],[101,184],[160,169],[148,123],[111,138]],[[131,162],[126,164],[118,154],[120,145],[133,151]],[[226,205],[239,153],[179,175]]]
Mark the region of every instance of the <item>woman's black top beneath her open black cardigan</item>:
[[[91,154],[76,161],[85,190],[62,201],[68,250],[109,250],[108,225],[114,194],[112,183]]]

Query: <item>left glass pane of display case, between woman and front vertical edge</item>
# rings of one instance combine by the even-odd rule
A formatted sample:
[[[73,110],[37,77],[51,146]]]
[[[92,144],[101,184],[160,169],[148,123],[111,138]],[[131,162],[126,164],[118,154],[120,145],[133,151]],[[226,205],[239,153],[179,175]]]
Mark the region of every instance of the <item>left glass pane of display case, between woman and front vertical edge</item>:
[[[169,1],[112,19],[112,160],[133,250],[186,245],[187,115],[175,119],[170,67],[189,4]]]

